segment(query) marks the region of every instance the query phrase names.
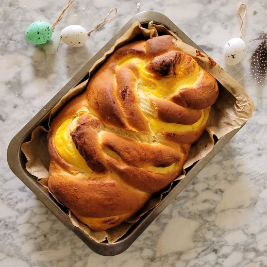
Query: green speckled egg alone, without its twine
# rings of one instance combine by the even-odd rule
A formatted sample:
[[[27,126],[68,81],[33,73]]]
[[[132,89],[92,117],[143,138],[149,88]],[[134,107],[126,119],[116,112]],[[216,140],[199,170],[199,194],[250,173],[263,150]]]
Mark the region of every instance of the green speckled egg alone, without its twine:
[[[42,45],[47,43],[52,37],[52,26],[45,21],[33,22],[25,32],[25,39],[33,45]]]

